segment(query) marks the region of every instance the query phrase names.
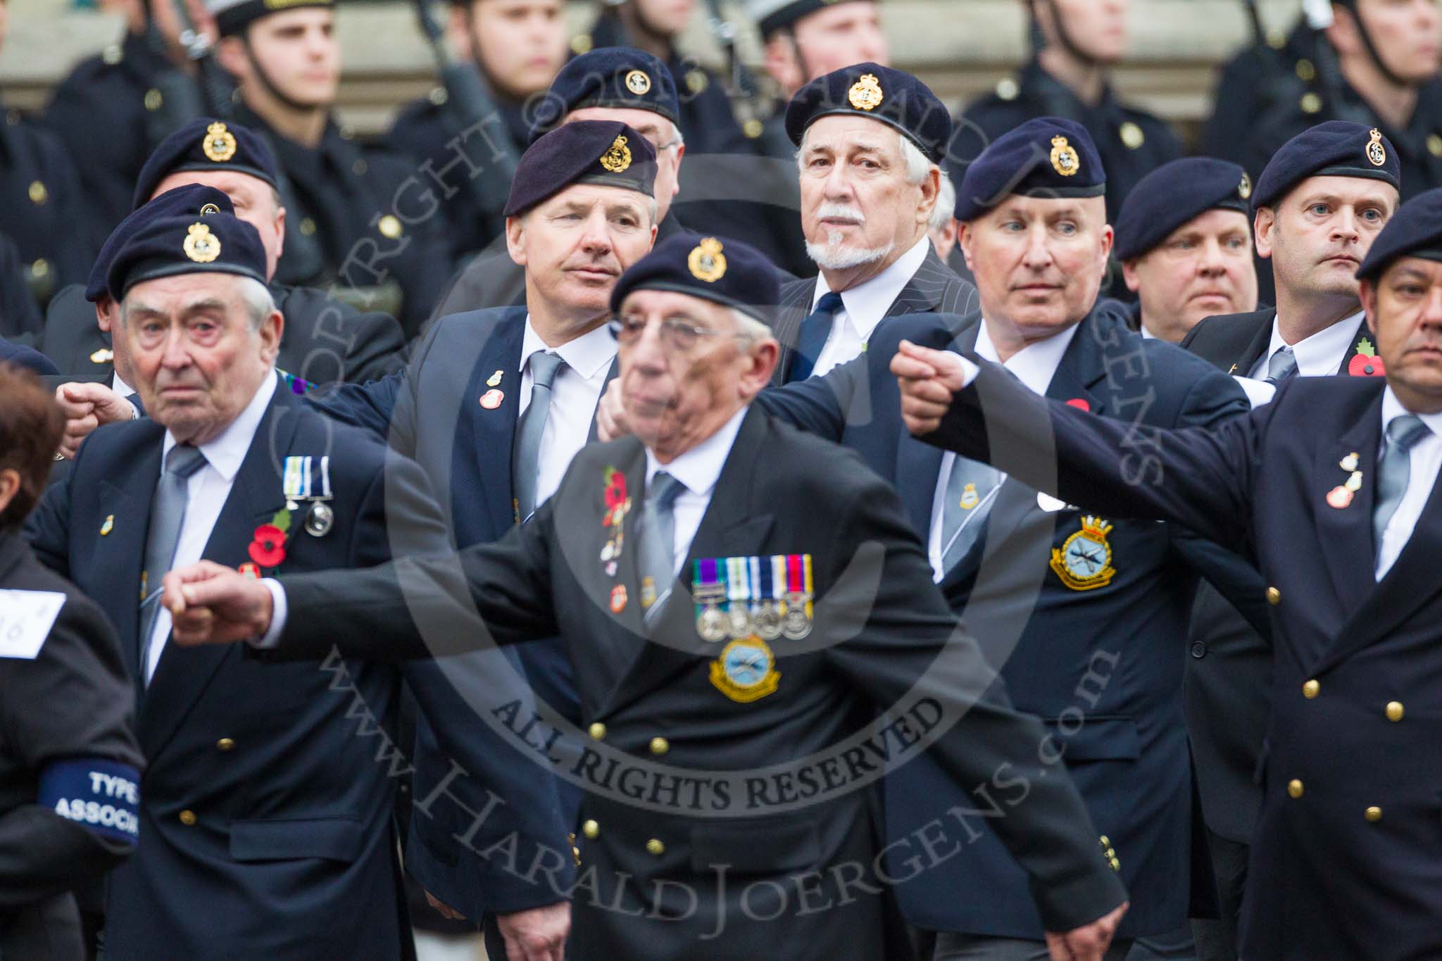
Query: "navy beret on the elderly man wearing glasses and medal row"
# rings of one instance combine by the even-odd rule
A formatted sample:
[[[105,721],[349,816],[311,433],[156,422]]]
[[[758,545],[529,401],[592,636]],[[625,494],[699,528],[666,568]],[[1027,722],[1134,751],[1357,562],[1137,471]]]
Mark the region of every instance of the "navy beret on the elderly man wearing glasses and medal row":
[[[691,294],[756,317],[767,327],[782,300],[776,268],[754,246],[728,238],[673,233],[622,274],[611,291],[611,313],[637,290]]]

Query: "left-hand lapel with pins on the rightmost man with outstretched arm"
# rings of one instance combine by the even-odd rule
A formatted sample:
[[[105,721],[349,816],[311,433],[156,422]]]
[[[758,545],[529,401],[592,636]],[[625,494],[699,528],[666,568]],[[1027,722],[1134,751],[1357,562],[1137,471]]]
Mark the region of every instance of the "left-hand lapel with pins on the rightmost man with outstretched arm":
[[[1371,509],[1376,497],[1380,438],[1381,393],[1367,405],[1361,418],[1335,444],[1318,447],[1317,461],[1309,474],[1318,487],[1315,491],[1308,491],[1308,497],[1317,499],[1312,504],[1317,539],[1343,618],[1355,614],[1367,594],[1373,591],[1371,559],[1376,552],[1371,543]],[[1363,484],[1353,493],[1345,507],[1332,507],[1327,497],[1337,487],[1345,490],[1351,471],[1344,470],[1341,462],[1353,454],[1357,455],[1357,470],[1363,473]],[[1363,563],[1358,565],[1358,560]],[[1363,576],[1358,576],[1358,566],[1363,569]]]

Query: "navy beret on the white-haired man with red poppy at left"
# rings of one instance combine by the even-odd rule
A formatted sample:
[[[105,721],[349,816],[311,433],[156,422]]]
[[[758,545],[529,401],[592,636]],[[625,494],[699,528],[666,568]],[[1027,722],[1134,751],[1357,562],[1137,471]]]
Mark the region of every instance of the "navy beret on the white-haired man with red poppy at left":
[[[177,274],[239,274],[264,284],[261,235],[232,213],[147,216],[115,254],[105,280],[118,301],[141,281]]]

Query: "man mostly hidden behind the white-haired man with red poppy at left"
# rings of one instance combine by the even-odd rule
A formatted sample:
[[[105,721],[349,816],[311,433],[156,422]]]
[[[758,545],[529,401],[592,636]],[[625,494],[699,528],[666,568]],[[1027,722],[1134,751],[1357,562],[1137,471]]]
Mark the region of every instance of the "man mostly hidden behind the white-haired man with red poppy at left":
[[[401,365],[404,339],[394,317],[360,313],[350,304],[311,287],[277,284],[277,261],[284,259],[284,225],[290,212],[278,206],[280,171],[264,141],[239,124],[212,118],[193,120],[167,137],[147,160],[136,183],[138,210],[153,197],[176,187],[206,184],[221,196],[186,195],[182,210],[199,215],[206,203],[234,212],[254,226],[267,249],[271,281],[267,287],[286,317],[277,366],[310,383],[382,377]],[[173,203],[176,196],[170,196]],[[105,274],[124,236],[112,235],[97,259],[89,281],[62,291],[46,316],[40,349],[65,373],[108,375],[112,363],[105,327],[97,327],[97,308],[107,313]],[[94,307],[92,307],[94,304]]]

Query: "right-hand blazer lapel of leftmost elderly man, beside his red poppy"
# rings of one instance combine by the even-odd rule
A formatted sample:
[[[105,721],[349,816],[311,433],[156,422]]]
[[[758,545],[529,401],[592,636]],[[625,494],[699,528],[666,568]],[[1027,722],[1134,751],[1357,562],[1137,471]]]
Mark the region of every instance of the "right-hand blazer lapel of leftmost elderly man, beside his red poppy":
[[[280,458],[290,451],[296,434],[296,418],[286,416],[291,403],[290,395],[277,388],[265,416],[255,429],[251,448],[235,473],[231,494],[221,507],[215,527],[211,529],[211,537],[200,553],[205,560],[228,568],[245,563],[249,559],[247,547],[255,527],[270,523],[275,511],[284,506],[278,468]],[[291,537],[300,529],[300,517],[296,517],[293,524]],[[238,657],[242,657],[242,653],[235,644],[200,647],[166,644],[140,710],[140,742],[147,755],[154,756],[166,746],[221,664]]]

